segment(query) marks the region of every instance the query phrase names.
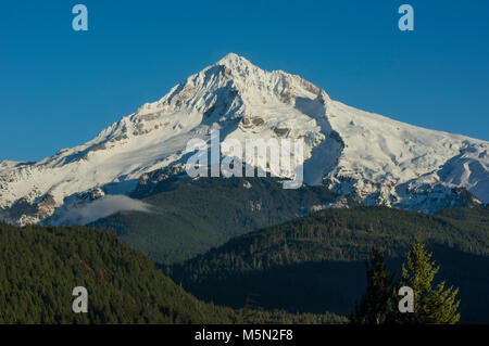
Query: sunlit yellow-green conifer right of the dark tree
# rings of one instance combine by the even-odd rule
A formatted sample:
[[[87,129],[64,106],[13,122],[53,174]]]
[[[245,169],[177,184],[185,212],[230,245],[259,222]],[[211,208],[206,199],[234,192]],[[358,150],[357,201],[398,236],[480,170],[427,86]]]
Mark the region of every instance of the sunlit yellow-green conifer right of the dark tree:
[[[414,292],[414,312],[398,313],[401,323],[454,324],[460,319],[456,300],[459,289],[444,290],[444,281],[432,287],[432,280],[440,269],[431,260],[419,238],[408,254],[408,268],[402,266],[401,284]]]

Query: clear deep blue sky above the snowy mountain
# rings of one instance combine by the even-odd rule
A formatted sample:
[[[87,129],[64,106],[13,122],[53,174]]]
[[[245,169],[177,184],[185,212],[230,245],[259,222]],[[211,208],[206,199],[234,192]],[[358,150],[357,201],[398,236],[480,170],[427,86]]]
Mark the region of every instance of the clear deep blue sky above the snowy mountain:
[[[84,3],[89,30],[72,29]],[[402,33],[410,3],[415,30]],[[228,52],[331,98],[489,140],[489,1],[2,1],[0,159],[80,144]]]

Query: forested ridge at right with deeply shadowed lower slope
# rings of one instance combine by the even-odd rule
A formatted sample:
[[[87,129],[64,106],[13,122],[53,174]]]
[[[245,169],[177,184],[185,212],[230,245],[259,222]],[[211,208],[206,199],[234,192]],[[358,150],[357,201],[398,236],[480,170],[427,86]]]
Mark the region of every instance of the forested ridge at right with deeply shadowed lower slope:
[[[204,300],[242,306],[252,295],[265,308],[348,315],[365,287],[364,260],[374,245],[389,268],[421,234],[440,265],[437,279],[460,287],[462,321],[488,322],[488,208],[425,215],[385,207],[328,209],[251,232],[183,265],[175,282]]]

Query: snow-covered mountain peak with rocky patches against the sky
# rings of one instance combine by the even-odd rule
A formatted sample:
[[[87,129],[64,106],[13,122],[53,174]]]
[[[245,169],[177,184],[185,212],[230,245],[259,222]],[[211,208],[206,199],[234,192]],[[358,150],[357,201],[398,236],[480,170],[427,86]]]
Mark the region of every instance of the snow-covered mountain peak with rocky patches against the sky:
[[[221,140],[303,138],[304,182],[337,192],[337,206],[432,212],[489,202],[489,142],[350,107],[230,53],[83,145],[36,163],[0,162],[0,219],[39,222],[80,201],[130,193],[155,170],[181,174],[187,142],[209,141],[214,129]]]

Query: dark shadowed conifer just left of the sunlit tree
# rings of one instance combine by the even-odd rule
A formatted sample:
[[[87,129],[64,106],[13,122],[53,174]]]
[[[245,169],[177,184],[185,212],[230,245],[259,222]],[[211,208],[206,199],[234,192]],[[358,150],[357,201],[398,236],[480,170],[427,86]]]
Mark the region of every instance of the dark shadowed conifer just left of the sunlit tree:
[[[367,286],[365,295],[350,316],[354,324],[383,324],[392,322],[393,275],[386,269],[384,253],[374,247],[365,264]]]

